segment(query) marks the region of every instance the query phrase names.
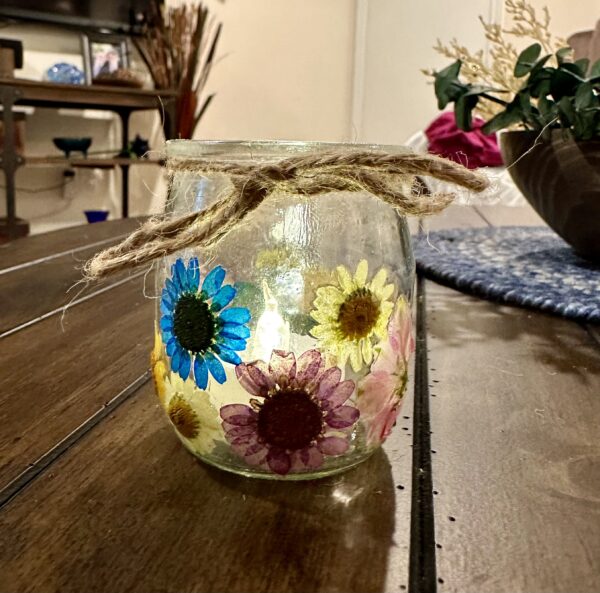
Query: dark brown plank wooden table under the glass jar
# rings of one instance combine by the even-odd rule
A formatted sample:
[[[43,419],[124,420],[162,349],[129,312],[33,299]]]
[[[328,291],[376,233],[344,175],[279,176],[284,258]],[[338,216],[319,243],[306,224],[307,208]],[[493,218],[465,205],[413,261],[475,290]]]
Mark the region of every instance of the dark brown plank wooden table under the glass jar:
[[[515,222],[538,220],[428,224]],[[600,590],[597,328],[420,281],[414,389],[383,450],[312,483],[241,479],[158,407],[143,273],[65,297],[134,224],[0,248],[0,591]]]

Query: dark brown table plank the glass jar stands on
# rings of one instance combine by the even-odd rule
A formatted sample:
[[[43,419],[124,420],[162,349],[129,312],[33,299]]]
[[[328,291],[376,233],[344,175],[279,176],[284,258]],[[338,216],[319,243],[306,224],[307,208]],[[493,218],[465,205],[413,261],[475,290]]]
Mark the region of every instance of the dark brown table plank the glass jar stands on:
[[[410,513],[401,428],[386,453],[345,474],[252,480],[195,461],[146,386],[5,507],[0,590],[400,590]]]

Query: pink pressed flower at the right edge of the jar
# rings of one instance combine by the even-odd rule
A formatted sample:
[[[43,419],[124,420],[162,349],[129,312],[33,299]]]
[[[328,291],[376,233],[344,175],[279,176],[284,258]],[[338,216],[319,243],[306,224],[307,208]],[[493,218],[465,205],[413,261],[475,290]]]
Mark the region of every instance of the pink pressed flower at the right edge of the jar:
[[[396,422],[408,381],[408,361],[414,350],[410,309],[406,300],[401,299],[388,325],[388,340],[371,372],[358,385],[357,405],[369,426],[369,445],[385,441]]]

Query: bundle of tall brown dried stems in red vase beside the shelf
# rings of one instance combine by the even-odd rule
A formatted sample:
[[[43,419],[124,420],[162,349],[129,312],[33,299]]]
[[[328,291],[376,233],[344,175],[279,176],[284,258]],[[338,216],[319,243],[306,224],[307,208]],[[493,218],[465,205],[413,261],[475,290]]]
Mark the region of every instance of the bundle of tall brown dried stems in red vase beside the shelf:
[[[214,64],[221,24],[202,4],[165,7],[151,3],[149,24],[135,45],[157,89],[176,89],[176,130],[191,138],[215,94],[200,96]]]

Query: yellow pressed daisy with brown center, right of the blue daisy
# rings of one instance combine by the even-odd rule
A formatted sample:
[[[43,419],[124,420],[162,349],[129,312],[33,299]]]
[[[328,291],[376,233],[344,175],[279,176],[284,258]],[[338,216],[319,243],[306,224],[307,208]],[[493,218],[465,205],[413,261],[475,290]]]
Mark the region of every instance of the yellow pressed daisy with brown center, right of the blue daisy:
[[[338,365],[349,359],[352,369],[360,371],[373,361],[373,340],[385,338],[387,322],[394,308],[389,300],[394,285],[386,284],[387,272],[381,268],[367,282],[369,266],[362,260],[354,276],[344,267],[336,269],[338,286],[317,289],[311,317],[318,323],[311,334],[319,347],[334,354]]]

